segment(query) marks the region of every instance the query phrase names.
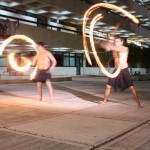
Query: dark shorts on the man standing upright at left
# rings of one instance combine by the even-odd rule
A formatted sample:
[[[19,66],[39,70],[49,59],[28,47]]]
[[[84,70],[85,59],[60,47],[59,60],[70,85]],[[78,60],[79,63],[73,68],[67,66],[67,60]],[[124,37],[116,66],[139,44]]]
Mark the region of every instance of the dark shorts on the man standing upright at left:
[[[36,82],[45,82],[46,80],[51,80],[51,74],[46,73],[47,70],[39,70],[37,69],[37,73],[35,75],[34,81]]]

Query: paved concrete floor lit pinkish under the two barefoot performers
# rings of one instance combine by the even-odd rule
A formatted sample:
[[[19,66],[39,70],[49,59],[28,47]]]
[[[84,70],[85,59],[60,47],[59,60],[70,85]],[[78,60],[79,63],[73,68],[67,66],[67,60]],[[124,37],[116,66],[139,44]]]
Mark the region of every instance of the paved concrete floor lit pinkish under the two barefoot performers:
[[[106,77],[53,82],[54,101],[43,84],[0,85],[0,150],[149,150],[150,81],[135,81],[142,109],[131,92],[112,90],[103,100]]]

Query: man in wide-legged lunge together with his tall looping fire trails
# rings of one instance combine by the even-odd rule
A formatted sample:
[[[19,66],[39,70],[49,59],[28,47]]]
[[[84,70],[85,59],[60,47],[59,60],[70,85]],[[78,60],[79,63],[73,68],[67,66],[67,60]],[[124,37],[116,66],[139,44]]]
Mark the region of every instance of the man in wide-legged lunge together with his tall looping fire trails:
[[[100,7],[104,7],[106,9],[118,11],[119,13],[125,15],[127,18],[129,18],[131,21],[133,21],[136,24],[139,24],[139,22],[140,22],[135,16],[133,16],[132,14],[127,12],[126,10],[124,10],[124,9],[122,9],[116,5],[113,5],[113,4],[97,3],[93,6],[91,6],[84,14],[84,20],[83,20],[83,26],[82,26],[83,46],[84,46],[85,56],[86,56],[87,61],[90,65],[92,65],[92,62],[90,59],[88,45],[87,45],[87,41],[86,41],[86,26],[87,26],[87,20],[88,20],[87,18],[89,18],[91,13],[93,13],[97,8],[100,8]],[[122,90],[125,90],[126,88],[130,88],[130,90],[134,96],[134,99],[137,103],[137,107],[141,108],[141,104],[140,104],[136,89],[133,85],[132,78],[128,72],[127,59],[128,59],[129,50],[127,47],[123,46],[123,40],[120,37],[115,37],[114,39],[108,39],[107,41],[99,41],[99,42],[96,41],[96,42],[94,42],[94,39],[93,39],[93,37],[94,37],[94,35],[93,35],[94,25],[101,18],[103,18],[103,15],[101,13],[94,16],[94,18],[92,19],[92,21],[90,23],[89,35],[90,35],[91,49],[92,49],[94,58],[98,64],[99,68],[102,70],[102,72],[106,76],[109,77],[109,81],[106,85],[103,103],[104,104],[107,103],[111,87],[121,88]],[[118,29],[119,26],[116,26],[116,29],[114,29],[114,33]],[[94,43],[95,44],[98,43],[99,46],[104,48],[106,51],[113,51],[114,58],[115,58],[115,70],[114,70],[113,74],[109,73],[104,68],[103,64],[101,63],[101,61],[97,55]]]

